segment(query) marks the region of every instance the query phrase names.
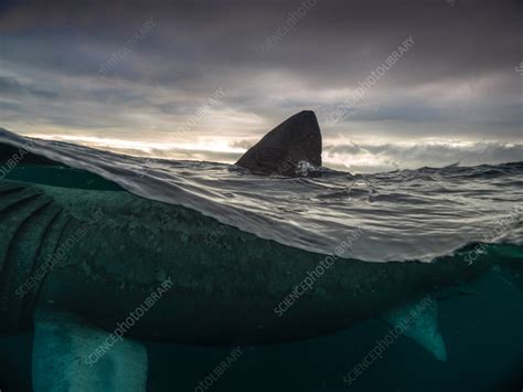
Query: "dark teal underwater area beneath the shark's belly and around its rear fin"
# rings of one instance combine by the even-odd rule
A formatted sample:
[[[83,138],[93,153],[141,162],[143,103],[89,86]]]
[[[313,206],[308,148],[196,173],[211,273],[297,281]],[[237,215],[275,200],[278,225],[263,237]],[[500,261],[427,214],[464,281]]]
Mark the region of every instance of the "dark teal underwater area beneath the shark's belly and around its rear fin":
[[[509,283],[508,283],[509,282]],[[209,390],[509,392],[523,385],[523,297],[508,276],[491,273],[473,295],[441,303],[449,359],[438,362],[399,338],[351,386],[343,375],[387,333],[378,320],[302,342],[244,348]],[[230,349],[148,343],[148,391],[194,391]],[[31,391],[31,335],[0,338],[2,391]]]

